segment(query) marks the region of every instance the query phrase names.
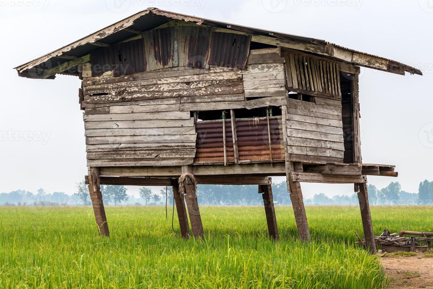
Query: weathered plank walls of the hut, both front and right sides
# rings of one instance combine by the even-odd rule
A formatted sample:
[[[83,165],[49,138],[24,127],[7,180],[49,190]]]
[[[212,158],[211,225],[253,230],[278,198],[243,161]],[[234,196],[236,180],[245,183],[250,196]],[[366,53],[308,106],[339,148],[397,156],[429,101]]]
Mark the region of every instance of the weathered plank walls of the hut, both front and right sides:
[[[116,77],[119,73],[113,70],[114,74],[104,71],[92,76],[92,66],[84,64],[81,106],[85,110],[88,166],[222,162],[222,144],[209,134],[197,139],[196,133],[206,130],[206,123],[194,125],[191,111],[281,105],[287,105],[287,114],[282,116],[286,127],[282,129],[287,130],[291,160],[342,162],[338,64],[276,48],[249,51],[248,37],[220,34],[224,33],[194,26],[145,32],[138,39],[145,52],[145,67],[139,67],[143,72]],[[221,43],[216,43],[218,39]],[[226,46],[229,40],[236,49]],[[238,57],[216,55],[216,51],[226,50]],[[98,61],[104,58],[93,57]],[[295,58],[297,62],[293,63]],[[288,99],[288,88],[310,92],[314,102]],[[281,118],[272,117],[270,121],[272,157],[268,131],[255,132],[257,141],[263,143],[258,149],[257,141],[250,142],[254,132],[244,130],[245,121],[239,121],[234,127],[240,162],[284,160]],[[233,142],[231,129],[230,120],[226,121],[226,143]],[[226,146],[226,161],[234,161],[233,146]]]

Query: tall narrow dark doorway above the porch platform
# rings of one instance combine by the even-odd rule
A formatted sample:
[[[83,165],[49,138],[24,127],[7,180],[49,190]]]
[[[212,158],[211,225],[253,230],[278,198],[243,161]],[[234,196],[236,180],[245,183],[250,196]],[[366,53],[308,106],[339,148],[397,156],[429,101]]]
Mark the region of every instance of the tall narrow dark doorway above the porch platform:
[[[353,75],[347,72],[340,72],[341,85],[341,108],[343,121],[343,140],[344,140],[344,163],[352,163],[353,142],[355,139],[353,123],[353,96],[352,96]]]

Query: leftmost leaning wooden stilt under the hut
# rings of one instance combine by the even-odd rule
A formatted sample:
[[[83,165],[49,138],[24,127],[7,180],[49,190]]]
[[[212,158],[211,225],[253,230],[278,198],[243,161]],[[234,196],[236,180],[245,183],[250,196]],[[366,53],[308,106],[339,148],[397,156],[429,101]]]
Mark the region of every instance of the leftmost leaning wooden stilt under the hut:
[[[95,213],[96,224],[99,227],[99,235],[110,237],[108,231],[107,216],[105,215],[102,193],[100,188],[100,173],[98,167],[90,167],[89,193]]]

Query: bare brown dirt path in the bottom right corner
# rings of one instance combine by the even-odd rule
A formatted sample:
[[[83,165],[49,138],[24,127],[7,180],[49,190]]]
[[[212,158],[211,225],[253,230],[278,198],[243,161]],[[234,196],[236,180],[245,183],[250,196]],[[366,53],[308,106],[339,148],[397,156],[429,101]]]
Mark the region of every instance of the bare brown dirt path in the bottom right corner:
[[[390,288],[433,289],[433,258],[419,254],[414,257],[384,257],[382,265],[391,276]]]

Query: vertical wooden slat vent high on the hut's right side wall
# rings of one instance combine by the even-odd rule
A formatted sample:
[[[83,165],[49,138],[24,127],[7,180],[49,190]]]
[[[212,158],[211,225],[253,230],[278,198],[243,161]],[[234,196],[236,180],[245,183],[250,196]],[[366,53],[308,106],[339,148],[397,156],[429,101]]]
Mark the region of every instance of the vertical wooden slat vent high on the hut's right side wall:
[[[285,57],[289,90],[315,91],[341,97],[338,63],[295,53],[286,53]]]

